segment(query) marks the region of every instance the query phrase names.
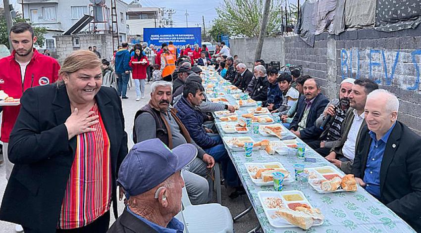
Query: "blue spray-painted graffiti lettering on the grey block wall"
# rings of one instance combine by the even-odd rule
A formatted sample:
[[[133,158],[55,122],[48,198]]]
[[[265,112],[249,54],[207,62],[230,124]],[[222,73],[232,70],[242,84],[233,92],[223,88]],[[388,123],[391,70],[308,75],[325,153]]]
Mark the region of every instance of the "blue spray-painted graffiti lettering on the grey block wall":
[[[369,78],[382,85],[420,90],[421,49],[342,48],[340,59],[342,79]]]

